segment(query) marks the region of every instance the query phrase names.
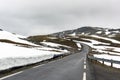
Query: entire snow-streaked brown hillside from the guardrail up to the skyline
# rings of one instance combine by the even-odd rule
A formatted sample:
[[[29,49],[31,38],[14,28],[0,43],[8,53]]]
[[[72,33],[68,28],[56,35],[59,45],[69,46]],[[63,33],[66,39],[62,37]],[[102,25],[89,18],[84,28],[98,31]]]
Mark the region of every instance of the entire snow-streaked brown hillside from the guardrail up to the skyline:
[[[84,43],[92,48],[90,55],[98,58],[120,61],[120,29],[86,26],[74,30],[44,35],[43,39],[41,39],[40,35],[30,36],[28,40],[37,43],[52,41],[66,45],[72,42],[72,47],[75,47],[73,45],[76,42]],[[65,42],[63,43],[63,41]],[[110,66],[110,63],[105,64]],[[114,67],[120,68],[117,64],[115,64]]]

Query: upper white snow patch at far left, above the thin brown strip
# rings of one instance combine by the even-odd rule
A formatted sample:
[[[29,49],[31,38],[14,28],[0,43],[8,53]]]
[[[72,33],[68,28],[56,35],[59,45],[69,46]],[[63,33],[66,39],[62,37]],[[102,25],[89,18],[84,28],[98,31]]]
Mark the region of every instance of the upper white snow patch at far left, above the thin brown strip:
[[[21,36],[21,35],[10,33],[7,31],[0,31],[0,39],[6,39],[6,40],[18,42],[18,43],[24,43],[24,44],[29,44],[29,45],[33,45],[33,46],[38,46],[38,45],[28,42],[26,40],[22,40],[20,38],[25,38],[25,37]]]

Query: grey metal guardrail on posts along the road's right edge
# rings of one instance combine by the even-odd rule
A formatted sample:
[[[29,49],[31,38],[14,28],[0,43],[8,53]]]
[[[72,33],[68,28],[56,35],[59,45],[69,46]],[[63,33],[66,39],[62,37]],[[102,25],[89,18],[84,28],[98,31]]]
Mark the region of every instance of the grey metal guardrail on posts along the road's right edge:
[[[112,59],[109,60],[109,59],[104,59],[104,58],[97,58],[92,55],[88,55],[87,57],[88,57],[88,59],[91,59],[91,60],[102,61],[103,64],[104,64],[104,62],[109,62],[109,63],[111,63],[111,67],[113,67],[113,63],[120,64],[120,61],[116,61],[116,60],[112,60]]]

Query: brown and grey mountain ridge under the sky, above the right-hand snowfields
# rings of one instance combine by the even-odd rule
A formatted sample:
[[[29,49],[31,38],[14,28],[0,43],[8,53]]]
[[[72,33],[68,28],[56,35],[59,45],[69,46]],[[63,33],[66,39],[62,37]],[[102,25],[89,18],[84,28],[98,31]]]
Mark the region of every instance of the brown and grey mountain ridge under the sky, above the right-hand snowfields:
[[[99,36],[99,38],[93,36]],[[40,42],[48,41],[48,42],[71,46],[72,48],[77,48],[76,43],[71,40],[90,42],[89,40],[83,38],[95,39],[101,42],[110,43],[112,46],[120,46],[118,44],[112,43],[113,40],[117,40],[114,42],[120,41],[120,29],[108,29],[101,27],[85,26],[78,29],[66,30],[49,35],[29,36],[27,40],[36,44],[41,44]],[[113,39],[113,40],[108,40],[108,39]]]

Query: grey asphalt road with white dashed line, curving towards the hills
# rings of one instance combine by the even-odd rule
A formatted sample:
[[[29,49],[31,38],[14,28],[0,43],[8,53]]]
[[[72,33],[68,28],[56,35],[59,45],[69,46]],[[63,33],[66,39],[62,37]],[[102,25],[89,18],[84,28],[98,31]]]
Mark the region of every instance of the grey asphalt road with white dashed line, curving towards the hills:
[[[5,76],[0,80],[90,80],[86,62],[89,47],[82,45],[83,49],[79,53]]]

